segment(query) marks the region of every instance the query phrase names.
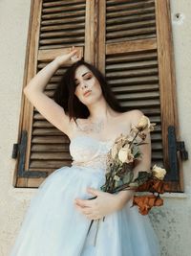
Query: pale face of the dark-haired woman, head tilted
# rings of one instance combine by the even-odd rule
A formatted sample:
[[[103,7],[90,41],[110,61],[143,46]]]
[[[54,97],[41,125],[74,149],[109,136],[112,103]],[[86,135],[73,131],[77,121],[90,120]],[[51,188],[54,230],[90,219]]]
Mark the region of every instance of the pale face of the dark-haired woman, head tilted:
[[[92,105],[102,96],[99,82],[86,66],[81,65],[76,69],[74,81],[76,84],[74,94],[82,104]]]

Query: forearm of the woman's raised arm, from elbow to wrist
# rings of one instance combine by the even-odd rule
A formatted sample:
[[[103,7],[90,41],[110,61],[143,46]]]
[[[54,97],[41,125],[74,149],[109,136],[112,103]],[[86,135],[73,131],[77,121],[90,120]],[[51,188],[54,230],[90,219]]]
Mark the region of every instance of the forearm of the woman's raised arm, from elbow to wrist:
[[[24,88],[24,91],[43,92],[53,74],[58,69],[59,64],[53,59],[48,65],[41,69]]]

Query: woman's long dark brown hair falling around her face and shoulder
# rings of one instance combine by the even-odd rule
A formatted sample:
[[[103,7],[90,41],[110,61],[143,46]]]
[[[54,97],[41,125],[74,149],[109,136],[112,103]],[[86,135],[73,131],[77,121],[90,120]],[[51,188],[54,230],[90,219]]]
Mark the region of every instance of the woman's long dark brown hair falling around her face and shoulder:
[[[88,118],[90,115],[88,107],[82,104],[74,95],[76,87],[74,82],[75,70],[81,65],[86,66],[90,71],[92,71],[101,86],[102,94],[107,104],[117,112],[124,112],[124,109],[122,109],[122,107],[118,104],[114,93],[101,72],[96,69],[95,66],[84,61],[83,59],[74,62],[74,64],[64,73],[53,94],[54,102],[64,108],[70,119],[74,118],[74,120],[76,120],[77,118]]]

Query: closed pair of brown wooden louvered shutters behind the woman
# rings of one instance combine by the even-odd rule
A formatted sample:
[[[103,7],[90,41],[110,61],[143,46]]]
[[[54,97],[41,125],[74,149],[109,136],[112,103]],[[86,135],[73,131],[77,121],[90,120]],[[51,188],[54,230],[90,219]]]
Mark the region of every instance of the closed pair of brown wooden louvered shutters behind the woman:
[[[169,128],[176,128],[179,139],[169,1],[33,0],[24,85],[72,45],[105,74],[124,109],[140,109],[157,123],[151,134],[152,164],[167,169],[170,191],[183,191],[176,150],[178,160],[170,158],[178,161],[179,170],[169,163]],[[47,85],[49,97],[69,65]],[[55,169],[70,165],[69,140],[25,97],[22,110],[14,185],[38,187]]]

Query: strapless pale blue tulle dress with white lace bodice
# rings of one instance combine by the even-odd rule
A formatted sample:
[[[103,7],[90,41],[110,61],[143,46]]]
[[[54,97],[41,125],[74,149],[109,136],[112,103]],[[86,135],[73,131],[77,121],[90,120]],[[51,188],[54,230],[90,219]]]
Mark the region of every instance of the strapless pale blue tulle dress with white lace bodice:
[[[130,207],[96,221],[74,207],[74,198],[92,198],[87,187],[105,182],[106,154],[114,141],[80,135],[72,139],[71,167],[49,175],[36,190],[10,256],[159,256],[159,241],[148,216]],[[96,234],[96,245],[95,245]]]

